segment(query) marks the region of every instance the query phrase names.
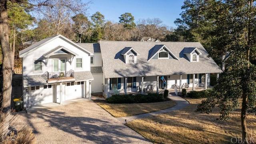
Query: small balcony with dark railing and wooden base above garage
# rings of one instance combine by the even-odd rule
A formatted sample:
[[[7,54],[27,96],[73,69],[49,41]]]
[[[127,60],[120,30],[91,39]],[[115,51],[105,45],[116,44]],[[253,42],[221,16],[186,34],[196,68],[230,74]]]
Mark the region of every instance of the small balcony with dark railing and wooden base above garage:
[[[48,84],[57,82],[70,82],[74,81],[74,70],[68,72],[45,72],[42,77],[47,81]]]

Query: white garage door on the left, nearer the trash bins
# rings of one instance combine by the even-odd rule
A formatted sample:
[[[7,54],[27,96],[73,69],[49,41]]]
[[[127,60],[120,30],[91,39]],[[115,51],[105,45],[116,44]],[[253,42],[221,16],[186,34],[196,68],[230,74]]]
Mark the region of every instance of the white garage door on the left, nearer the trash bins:
[[[37,104],[46,104],[53,102],[53,90],[51,88],[44,88],[44,86],[40,86],[38,90],[31,90],[31,87],[29,88],[28,92],[28,102],[31,105],[37,105]]]

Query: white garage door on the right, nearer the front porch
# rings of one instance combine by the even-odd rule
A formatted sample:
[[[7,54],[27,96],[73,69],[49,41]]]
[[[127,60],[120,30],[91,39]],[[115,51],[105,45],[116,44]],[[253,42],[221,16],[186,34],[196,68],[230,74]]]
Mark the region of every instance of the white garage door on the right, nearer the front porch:
[[[65,87],[65,100],[72,100],[76,98],[82,98],[84,94],[84,84],[77,84],[77,82],[74,82],[74,85],[66,84]]]

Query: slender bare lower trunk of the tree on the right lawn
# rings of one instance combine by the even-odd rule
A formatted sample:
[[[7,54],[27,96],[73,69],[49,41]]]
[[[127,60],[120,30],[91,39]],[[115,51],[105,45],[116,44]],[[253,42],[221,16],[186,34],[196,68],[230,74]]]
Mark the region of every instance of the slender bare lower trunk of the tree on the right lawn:
[[[244,142],[244,144],[247,144],[246,110],[247,110],[247,95],[243,94],[242,109],[241,109],[241,128],[242,128],[242,142]]]

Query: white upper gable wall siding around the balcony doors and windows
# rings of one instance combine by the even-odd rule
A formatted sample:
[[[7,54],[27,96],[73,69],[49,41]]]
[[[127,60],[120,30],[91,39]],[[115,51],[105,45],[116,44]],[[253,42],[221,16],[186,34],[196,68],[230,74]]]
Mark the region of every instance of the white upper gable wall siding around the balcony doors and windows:
[[[70,49],[72,52],[78,54],[78,58],[83,58],[83,68],[81,70],[76,71],[90,71],[90,56],[88,53],[84,52],[80,48],[70,44],[69,42],[66,42],[65,40],[62,40],[61,38],[57,38],[55,40],[52,40],[48,42],[47,44],[44,44],[43,46],[37,48],[36,50],[28,53],[23,58],[23,75],[38,75],[38,74],[44,74],[46,71],[52,72],[52,63],[54,58],[65,58],[66,59],[66,70],[75,70],[76,66],[76,57],[73,58],[70,54],[57,54],[50,56],[48,60],[48,65],[46,66],[46,58],[44,58],[43,54],[46,52],[52,50],[53,48],[56,48],[57,46],[64,46],[65,48]],[[40,73],[34,73],[34,60],[43,60],[43,71]]]

